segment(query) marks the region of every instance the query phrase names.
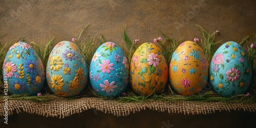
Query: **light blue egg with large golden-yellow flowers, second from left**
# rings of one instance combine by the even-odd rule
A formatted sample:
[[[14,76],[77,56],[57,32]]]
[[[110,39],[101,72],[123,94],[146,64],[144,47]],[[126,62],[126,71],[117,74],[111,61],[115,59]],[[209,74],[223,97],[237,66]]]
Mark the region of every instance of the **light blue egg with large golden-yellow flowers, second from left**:
[[[73,42],[61,41],[52,49],[46,73],[48,86],[56,95],[72,97],[86,88],[87,64],[81,50]]]

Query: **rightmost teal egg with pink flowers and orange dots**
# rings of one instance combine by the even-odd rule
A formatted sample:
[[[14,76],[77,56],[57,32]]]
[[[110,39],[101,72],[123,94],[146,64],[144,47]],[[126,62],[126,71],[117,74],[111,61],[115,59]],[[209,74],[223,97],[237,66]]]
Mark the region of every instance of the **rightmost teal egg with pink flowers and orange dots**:
[[[214,91],[221,96],[244,94],[252,71],[243,47],[234,41],[225,42],[211,59],[209,77]]]

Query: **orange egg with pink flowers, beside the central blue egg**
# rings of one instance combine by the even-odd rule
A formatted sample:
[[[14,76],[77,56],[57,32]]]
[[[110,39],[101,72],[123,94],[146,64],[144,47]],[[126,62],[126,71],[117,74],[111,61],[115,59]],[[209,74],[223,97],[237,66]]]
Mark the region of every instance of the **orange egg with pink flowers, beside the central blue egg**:
[[[168,79],[168,66],[161,50],[145,42],[134,52],[130,77],[132,89],[138,95],[161,94]]]

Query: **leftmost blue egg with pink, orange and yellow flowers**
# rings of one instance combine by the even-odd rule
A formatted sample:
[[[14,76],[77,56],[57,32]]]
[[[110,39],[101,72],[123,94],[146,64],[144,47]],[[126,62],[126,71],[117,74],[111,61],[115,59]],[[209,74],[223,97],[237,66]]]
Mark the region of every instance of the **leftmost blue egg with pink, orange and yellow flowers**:
[[[8,50],[3,76],[11,94],[36,95],[44,86],[45,69],[36,51],[26,42],[19,41]]]

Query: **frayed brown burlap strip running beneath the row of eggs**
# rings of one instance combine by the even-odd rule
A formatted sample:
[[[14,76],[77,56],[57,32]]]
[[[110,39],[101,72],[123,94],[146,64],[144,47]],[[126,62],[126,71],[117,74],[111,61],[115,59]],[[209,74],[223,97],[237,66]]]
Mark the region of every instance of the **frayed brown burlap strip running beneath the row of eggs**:
[[[5,102],[0,102],[1,115],[5,113]],[[14,113],[29,113],[44,117],[65,118],[76,113],[82,113],[89,109],[95,109],[105,114],[115,116],[127,116],[141,110],[154,110],[159,112],[178,114],[212,114],[221,111],[256,111],[256,103],[223,103],[223,102],[198,102],[198,101],[168,101],[159,100],[141,103],[115,100],[103,100],[94,97],[79,98],[74,100],[53,100],[50,102],[35,102],[29,100],[8,100],[9,115]]]

